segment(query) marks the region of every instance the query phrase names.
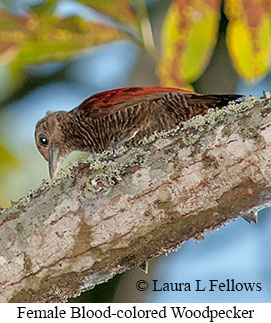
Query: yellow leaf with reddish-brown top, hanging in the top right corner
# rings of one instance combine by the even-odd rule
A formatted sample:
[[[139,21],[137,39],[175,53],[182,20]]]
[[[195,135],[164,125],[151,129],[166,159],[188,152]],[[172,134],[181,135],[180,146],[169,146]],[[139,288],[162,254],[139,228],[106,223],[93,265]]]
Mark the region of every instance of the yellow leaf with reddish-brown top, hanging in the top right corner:
[[[227,0],[227,46],[236,71],[254,82],[270,71],[271,16],[269,0]]]

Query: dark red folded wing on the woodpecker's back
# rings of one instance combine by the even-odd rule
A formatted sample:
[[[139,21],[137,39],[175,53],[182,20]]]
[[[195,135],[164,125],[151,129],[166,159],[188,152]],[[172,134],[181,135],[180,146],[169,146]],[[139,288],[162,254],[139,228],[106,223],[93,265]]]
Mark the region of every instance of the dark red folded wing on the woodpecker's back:
[[[144,99],[156,99],[168,92],[191,93],[167,87],[125,87],[94,94],[83,101],[73,112],[92,117],[105,116]]]

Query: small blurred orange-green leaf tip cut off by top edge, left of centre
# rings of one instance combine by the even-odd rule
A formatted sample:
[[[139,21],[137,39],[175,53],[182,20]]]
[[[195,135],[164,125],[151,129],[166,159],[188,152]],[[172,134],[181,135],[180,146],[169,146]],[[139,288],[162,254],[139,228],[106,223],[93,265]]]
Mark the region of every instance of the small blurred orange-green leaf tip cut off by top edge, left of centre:
[[[78,0],[78,2],[106,14],[116,21],[137,27],[137,18],[130,0]]]

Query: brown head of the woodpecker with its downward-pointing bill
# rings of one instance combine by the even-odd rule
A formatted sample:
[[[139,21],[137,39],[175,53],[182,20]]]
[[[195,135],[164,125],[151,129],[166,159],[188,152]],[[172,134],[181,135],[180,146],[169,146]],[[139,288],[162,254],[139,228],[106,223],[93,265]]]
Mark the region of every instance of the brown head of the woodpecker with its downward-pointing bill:
[[[51,179],[55,177],[60,161],[70,153],[67,133],[64,130],[69,118],[66,111],[47,113],[36,125],[36,145],[49,163]]]

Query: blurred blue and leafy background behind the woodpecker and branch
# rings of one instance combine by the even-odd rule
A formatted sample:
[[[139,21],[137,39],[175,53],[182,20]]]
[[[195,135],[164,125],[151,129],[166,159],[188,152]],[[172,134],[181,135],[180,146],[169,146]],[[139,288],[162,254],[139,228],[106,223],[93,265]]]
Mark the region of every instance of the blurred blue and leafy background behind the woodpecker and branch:
[[[262,96],[263,91],[271,91],[271,7],[268,0],[258,1],[263,8],[269,5],[267,18],[257,15],[256,9],[255,17],[251,17],[251,13],[250,17],[246,16],[241,4],[233,11],[232,1],[213,1],[211,9],[200,6],[201,0],[191,1],[194,7],[191,4],[189,8],[185,8],[185,1],[134,1],[132,11],[129,9],[130,13],[133,12],[131,17],[125,14],[125,6],[130,6],[131,1],[116,1],[123,9],[121,17],[112,13],[113,9],[95,7],[98,2],[0,0],[0,206],[8,207],[11,201],[19,199],[36,188],[42,179],[49,177],[47,162],[38,153],[33,135],[36,122],[48,110],[68,111],[95,92],[135,85],[161,84],[194,89],[200,93],[241,93],[257,97]],[[57,47],[48,50],[44,46],[44,43],[50,43],[50,35],[45,35],[46,39],[44,34],[49,21],[46,19],[52,15],[59,19],[58,23],[62,20],[66,23],[69,17],[79,17],[80,23],[103,24],[128,37],[109,33],[112,39],[108,37],[100,42],[102,34],[98,33],[95,43],[82,41],[76,48],[65,47],[68,49],[64,55],[61,51],[58,53]],[[18,17],[23,22],[18,22]],[[25,22],[29,17],[32,20]],[[184,19],[190,21],[190,26]],[[196,26],[202,19],[204,24]],[[234,25],[236,21],[239,23],[237,27]],[[240,21],[246,28],[242,24],[240,27]],[[178,30],[178,24],[182,30]],[[41,31],[42,28],[37,26],[45,29]],[[65,29],[63,26],[62,31]],[[69,25],[68,28],[73,27]],[[261,31],[259,39],[255,36],[257,28]],[[10,30],[13,34],[9,33]],[[76,32],[78,39],[81,30]],[[90,36],[94,32],[90,30]],[[254,38],[249,38],[250,33],[254,33]],[[240,39],[241,53],[236,48],[236,37]],[[199,39],[205,43],[199,43]],[[255,53],[253,44],[258,46],[255,45]],[[264,54],[266,48],[267,56]],[[179,59],[177,63],[176,57]],[[270,302],[270,233],[270,210],[265,209],[260,212],[257,225],[238,219],[219,231],[207,234],[199,244],[191,240],[177,252],[153,259],[149,275],[135,268],[71,301]],[[234,279],[236,282],[259,282],[262,290],[139,292],[135,285],[139,279],[145,279],[150,285],[152,279],[190,282],[191,285],[196,279],[203,282]]]

